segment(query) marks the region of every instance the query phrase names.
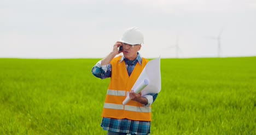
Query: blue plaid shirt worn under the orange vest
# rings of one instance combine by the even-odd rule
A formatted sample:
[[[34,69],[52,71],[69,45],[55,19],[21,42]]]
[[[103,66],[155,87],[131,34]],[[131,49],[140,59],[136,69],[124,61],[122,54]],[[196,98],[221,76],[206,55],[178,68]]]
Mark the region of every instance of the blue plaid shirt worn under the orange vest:
[[[139,55],[134,61],[127,60],[124,56],[121,58],[120,62],[125,61],[126,69],[129,74],[129,77],[136,66],[136,63],[142,63],[142,57]],[[93,68],[92,74],[97,78],[109,78],[112,74],[111,64],[101,66],[101,61],[99,61]],[[157,93],[152,93],[146,96],[152,96],[153,102],[158,96]],[[152,103],[153,103],[152,102]],[[149,106],[150,104],[146,105]],[[108,130],[112,132],[121,132],[121,133],[133,133],[133,134],[148,134],[150,133],[150,121],[134,121],[129,119],[113,119],[113,118],[103,118],[101,121],[101,127],[103,130]]]

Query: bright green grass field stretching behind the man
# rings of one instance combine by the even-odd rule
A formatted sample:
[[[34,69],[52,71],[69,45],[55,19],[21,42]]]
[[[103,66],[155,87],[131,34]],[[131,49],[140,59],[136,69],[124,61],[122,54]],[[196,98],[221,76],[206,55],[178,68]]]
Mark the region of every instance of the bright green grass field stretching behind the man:
[[[100,59],[0,58],[0,134],[107,134]],[[152,134],[256,134],[256,57],[161,60]]]

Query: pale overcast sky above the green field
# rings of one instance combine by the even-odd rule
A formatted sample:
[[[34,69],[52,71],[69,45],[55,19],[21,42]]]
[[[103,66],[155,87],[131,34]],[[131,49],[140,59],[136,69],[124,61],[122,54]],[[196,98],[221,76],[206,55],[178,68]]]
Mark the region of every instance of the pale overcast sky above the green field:
[[[1,0],[0,57],[103,58],[129,27],[146,58],[256,56],[255,0]]]

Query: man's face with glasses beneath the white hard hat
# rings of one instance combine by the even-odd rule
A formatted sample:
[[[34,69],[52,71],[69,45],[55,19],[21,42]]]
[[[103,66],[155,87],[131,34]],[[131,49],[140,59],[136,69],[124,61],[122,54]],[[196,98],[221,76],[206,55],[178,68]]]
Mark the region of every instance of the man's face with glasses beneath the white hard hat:
[[[124,57],[132,61],[137,58],[137,52],[141,50],[141,45],[130,45],[123,43],[123,54]]]

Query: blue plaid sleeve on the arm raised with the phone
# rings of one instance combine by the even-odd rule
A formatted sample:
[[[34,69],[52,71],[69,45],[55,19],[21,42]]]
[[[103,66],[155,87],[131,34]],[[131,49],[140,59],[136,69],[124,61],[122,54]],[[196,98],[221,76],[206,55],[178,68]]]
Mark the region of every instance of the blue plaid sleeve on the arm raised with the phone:
[[[94,67],[91,69],[91,73],[101,79],[109,78],[112,74],[112,66],[111,64],[106,64],[101,66],[101,61],[98,61]]]

